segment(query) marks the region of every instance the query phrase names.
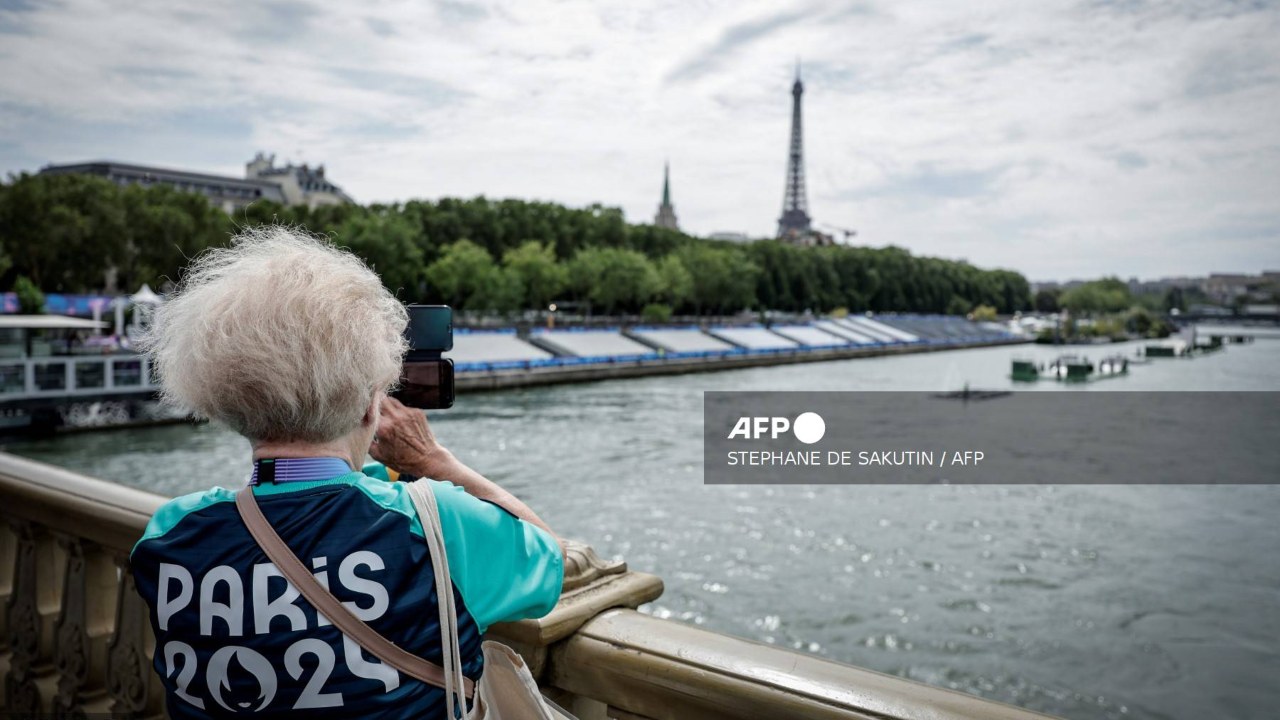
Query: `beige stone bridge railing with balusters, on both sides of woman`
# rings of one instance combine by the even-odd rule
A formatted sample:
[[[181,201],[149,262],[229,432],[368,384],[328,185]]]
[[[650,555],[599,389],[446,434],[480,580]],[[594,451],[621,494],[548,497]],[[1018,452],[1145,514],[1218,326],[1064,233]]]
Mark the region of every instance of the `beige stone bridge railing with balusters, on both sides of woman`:
[[[165,498],[0,454],[0,711],[163,717],[129,550]],[[659,620],[662,580],[575,544],[539,620],[498,625],[582,720],[1034,720],[1025,710]]]

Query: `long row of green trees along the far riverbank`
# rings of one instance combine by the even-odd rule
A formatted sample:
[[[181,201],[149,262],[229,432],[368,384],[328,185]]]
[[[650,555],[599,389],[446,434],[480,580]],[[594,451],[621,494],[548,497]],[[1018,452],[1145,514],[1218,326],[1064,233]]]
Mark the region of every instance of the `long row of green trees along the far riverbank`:
[[[899,247],[797,247],[628,224],[620,209],[522,200],[283,206],[228,215],[201,195],[77,174],[0,184],[0,286],[45,292],[163,288],[238,227],[287,223],[364,258],[406,302],[509,313],[575,302],[593,313],[744,309],[961,314],[1030,307],[1027,279]]]

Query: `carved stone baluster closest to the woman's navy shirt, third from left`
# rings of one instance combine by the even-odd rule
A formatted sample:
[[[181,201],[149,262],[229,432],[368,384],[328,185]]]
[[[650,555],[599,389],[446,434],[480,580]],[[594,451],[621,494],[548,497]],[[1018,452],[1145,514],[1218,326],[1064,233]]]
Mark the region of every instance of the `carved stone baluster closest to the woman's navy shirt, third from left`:
[[[133,584],[127,556],[116,556],[119,594],[115,602],[115,633],[106,653],[106,688],[114,717],[159,717],[164,698],[151,652],[155,638],[147,606]]]

